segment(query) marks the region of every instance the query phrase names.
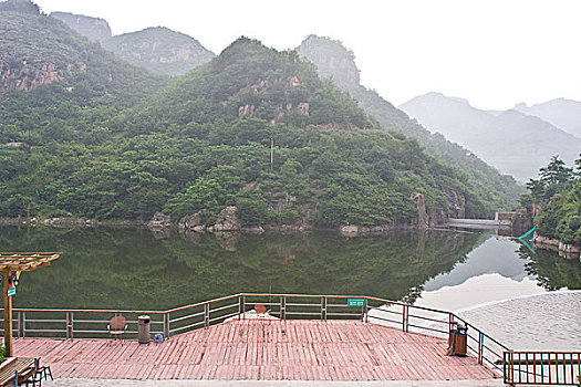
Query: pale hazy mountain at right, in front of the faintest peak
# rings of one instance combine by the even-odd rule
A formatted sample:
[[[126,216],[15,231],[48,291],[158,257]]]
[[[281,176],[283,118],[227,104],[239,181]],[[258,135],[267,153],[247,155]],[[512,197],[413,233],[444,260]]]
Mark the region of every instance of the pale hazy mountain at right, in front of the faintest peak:
[[[400,107],[521,181],[536,177],[551,156],[572,163],[581,149],[581,139],[516,109],[485,112],[439,93],[417,96]]]

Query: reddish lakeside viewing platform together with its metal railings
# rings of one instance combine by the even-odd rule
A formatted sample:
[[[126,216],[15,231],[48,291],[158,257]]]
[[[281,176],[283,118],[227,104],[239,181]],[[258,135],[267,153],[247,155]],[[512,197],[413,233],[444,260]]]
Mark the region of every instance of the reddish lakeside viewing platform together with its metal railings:
[[[40,358],[63,380],[579,385],[581,374],[581,352],[512,351],[452,312],[366,295],[239,293],[167,311],[13,312],[15,356]],[[106,338],[118,318],[124,339]]]

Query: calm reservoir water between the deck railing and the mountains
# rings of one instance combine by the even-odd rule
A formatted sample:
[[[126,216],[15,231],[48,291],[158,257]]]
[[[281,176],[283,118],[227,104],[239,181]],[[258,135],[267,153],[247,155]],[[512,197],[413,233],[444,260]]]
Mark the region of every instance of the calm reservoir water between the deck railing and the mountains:
[[[581,293],[567,292],[581,289],[579,260],[531,253],[492,230],[355,238],[319,231],[218,237],[136,228],[0,230],[0,251],[62,252],[50,266],[21,275],[14,307],[167,310],[240,292],[364,294],[455,311],[502,336],[504,328],[517,327],[507,326],[504,313],[522,311],[519,300],[533,307],[527,315],[535,324],[546,304],[539,296],[566,291],[563,316],[572,316],[572,326],[563,323],[560,346],[579,347],[568,343],[581,338],[574,308]],[[551,299],[556,307],[559,302]],[[541,322],[553,326],[553,313]],[[513,335],[506,336],[499,338]]]

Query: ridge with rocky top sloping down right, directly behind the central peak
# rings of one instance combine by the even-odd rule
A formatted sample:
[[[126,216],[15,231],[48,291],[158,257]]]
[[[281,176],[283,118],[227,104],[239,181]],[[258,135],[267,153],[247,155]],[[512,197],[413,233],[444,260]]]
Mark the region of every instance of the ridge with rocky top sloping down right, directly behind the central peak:
[[[417,139],[429,155],[467,174],[467,179],[478,191],[488,211],[516,206],[523,189],[517,186],[512,177],[500,175],[471,151],[450,143],[440,134],[429,133],[376,92],[362,86],[354,54],[341,42],[310,35],[297,51],[317,65],[321,76],[331,77],[341,88],[349,92],[384,128]]]

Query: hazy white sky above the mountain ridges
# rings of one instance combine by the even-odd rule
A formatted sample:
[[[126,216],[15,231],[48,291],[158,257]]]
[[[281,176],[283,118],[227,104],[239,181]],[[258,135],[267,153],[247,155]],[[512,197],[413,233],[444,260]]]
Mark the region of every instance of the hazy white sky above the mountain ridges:
[[[479,108],[581,101],[579,0],[37,0],[106,19],[113,34],[164,25],[219,53],[240,35],[279,50],[309,34],[353,50],[362,83],[398,105],[430,91]]]

